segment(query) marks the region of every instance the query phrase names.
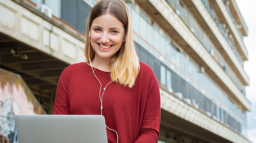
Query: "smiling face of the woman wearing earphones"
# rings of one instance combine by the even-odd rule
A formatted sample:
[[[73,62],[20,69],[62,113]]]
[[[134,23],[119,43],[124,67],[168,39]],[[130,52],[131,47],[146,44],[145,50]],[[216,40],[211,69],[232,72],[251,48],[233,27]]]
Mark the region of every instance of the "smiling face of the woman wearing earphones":
[[[91,26],[91,45],[95,51],[93,60],[110,61],[120,49],[124,38],[124,28],[112,14],[103,14],[95,18]]]

